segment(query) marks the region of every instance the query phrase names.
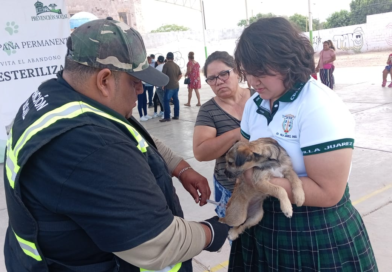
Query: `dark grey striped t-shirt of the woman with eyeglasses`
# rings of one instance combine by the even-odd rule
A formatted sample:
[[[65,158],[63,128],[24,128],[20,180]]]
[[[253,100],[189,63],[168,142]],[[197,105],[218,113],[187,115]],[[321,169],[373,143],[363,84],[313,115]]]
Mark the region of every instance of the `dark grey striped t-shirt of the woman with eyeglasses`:
[[[252,96],[252,94],[254,94],[254,90],[250,90],[250,92]],[[214,98],[211,98],[200,107],[195,126],[213,127],[216,129],[216,136],[218,137],[230,130],[239,128],[240,124],[240,120],[224,111],[215,102]],[[235,179],[229,179],[225,175],[225,156],[226,153],[216,159],[214,177],[220,184],[222,184],[223,187],[232,192],[234,189]]]

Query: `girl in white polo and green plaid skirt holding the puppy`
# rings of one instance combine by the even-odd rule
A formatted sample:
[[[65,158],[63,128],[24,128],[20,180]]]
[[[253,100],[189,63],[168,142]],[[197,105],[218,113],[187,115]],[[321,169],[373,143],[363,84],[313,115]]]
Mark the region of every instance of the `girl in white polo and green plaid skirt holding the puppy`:
[[[244,29],[234,55],[256,91],[245,105],[241,141],[275,139],[302,181],[305,203],[295,204],[286,178],[272,178],[287,192],[293,216],[277,198],[265,199],[261,221],[233,241],[228,271],[378,271],[347,182],[355,121],[335,92],[310,77],[308,38],[284,18],[260,19]],[[251,187],[252,171],[245,172]]]

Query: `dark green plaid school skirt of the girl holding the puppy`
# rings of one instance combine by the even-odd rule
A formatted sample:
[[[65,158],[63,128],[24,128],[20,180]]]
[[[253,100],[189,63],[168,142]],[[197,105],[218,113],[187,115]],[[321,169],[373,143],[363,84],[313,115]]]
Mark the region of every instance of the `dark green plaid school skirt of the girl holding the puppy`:
[[[264,201],[264,217],[233,241],[229,271],[378,271],[365,225],[348,186],[330,208],[297,207],[287,218],[279,200]]]

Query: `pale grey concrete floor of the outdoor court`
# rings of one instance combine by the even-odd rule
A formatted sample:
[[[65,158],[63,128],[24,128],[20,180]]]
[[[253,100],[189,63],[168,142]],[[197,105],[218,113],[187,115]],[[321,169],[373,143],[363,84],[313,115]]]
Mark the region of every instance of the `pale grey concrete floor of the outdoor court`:
[[[349,180],[351,199],[365,221],[379,271],[392,271],[392,88],[381,87],[382,67],[340,68],[335,71],[336,92],[356,119],[356,139],[353,166]],[[370,76],[369,76],[370,75]],[[202,85],[202,102],[213,96],[207,85]],[[193,126],[198,113],[196,98],[192,107],[182,106],[187,90],[180,89],[180,120],[160,123],[157,119],[142,123],[175,152],[182,155],[192,167],[208,178],[212,187],[214,162],[198,162],[192,152]],[[152,114],[152,109],[149,109]],[[137,115],[137,110],[134,110]],[[2,167],[1,167],[2,168]],[[0,170],[1,178],[2,169]],[[185,217],[202,220],[214,215],[214,206],[195,205],[177,179],[174,183]],[[0,183],[0,245],[8,224],[3,182]],[[194,258],[194,271],[227,271],[230,246],[219,253],[202,252]],[[4,256],[0,255],[0,272],[5,271]]]

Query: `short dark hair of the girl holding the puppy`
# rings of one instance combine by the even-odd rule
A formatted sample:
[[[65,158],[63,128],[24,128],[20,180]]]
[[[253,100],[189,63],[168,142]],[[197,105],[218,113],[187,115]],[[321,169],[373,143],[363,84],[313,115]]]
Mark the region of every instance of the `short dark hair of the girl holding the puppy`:
[[[314,50],[307,37],[282,17],[263,18],[244,29],[235,61],[239,71],[253,76],[283,76],[287,89],[306,82],[315,72]]]

